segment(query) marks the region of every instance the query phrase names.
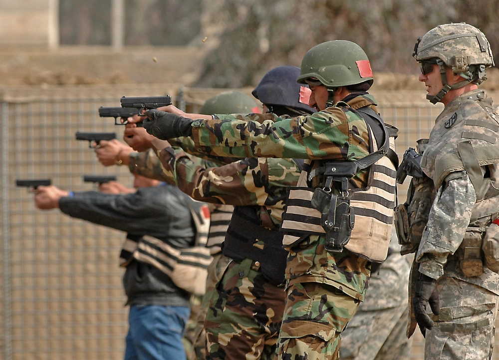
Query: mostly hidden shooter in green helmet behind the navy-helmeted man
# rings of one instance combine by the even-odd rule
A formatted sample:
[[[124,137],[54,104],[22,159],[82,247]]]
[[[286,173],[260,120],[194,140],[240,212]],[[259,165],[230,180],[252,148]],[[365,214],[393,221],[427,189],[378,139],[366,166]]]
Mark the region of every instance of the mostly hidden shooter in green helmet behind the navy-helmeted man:
[[[249,113],[256,108],[254,100],[247,94],[239,91],[227,91],[208,99],[201,107],[203,114],[217,113]],[[134,175],[141,175],[151,179],[175,184],[172,172],[166,171],[159,161],[156,153],[150,149],[151,140],[155,139],[143,128],[136,127],[135,124],[127,125],[124,132],[124,140],[130,146],[126,146],[118,140],[102,141],[95,150],[99,161],[110,166],[114,164],[128,165],[130,172]],[[176,139],[172,141],[178,146],[182,146],[186,151],[196,152],[193,142],[189,138]],[[139,152],[133,152],[133,150]],[[208,161],[198,159],[203,166],[209,164]],[[223,164],[232,162],[232,158],[213,159],[217,163]],[[208,235],[207,247],[213,257],[213,261],[208,267],[208,278],[206,281],[206,293],[204,296],[191,297],[191,317],[186,326],[183,342],[188,360],[205,359],[206,335],[204,332],[204,322],[208,311],[211,294],[215,289],[222,275],[225,273],[230,258],[222,254],[221,244],[225,239],[227,228],[232,217],[234,207],[224,204],[210,204],[211,221]]]

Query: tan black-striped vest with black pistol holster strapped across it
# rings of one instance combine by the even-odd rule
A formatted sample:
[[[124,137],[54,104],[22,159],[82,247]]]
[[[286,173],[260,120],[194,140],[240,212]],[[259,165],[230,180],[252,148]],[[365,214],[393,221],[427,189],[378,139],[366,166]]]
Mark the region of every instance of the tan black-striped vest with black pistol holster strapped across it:
[[[328,161],[314,173],[302,172],[298,186],[289,192],[282,217],[283,244],[292,246],[309,235],[325,236],[329,251],[342,251],[344,247],[369,261],[381,263],[388,254],[395,206],[396,128],[385,126],[370,108],[357,111],[369,125],[373,152],[354,162]],[[379,149],[374,148],[375,142],[381,144]],[[348,179],[368,167],[367,187],[349,193]],[[326,177],[325,187],[311,189],[307,177],[310,180],[318,174]],[[333,187],[339,195],[333,194]]]

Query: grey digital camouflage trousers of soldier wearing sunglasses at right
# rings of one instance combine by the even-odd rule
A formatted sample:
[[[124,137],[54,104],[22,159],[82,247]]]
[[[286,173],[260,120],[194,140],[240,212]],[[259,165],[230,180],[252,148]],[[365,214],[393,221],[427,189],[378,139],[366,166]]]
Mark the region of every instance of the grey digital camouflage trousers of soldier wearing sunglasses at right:
[[[425,359],[492,359],[499,297],[477,285],[441,277],[440,315],[426,332]]]

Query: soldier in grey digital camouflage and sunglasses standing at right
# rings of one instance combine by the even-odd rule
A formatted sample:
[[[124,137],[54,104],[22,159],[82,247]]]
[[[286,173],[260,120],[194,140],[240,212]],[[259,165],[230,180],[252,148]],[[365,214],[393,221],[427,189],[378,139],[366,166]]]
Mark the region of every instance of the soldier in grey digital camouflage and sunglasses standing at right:
[[[445,108],[423,156],[416,157],[436,194],[416,247],[413,319],[426,336],[425,359],[492,359],[499,299],[499,123],[492,99],[477,86],[494,65],[491,48],[476,27],[443,24],[418,39],[414,57],[427,98]],[[404,235],[412,245],[419,240]]]

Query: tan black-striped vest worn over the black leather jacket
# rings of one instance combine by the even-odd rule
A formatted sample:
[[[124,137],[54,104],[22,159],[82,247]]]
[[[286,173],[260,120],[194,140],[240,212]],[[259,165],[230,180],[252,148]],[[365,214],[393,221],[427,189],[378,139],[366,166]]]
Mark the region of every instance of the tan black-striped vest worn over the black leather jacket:
[[[194,245],[177,249],[152,236],[127,235],[120,254],[120,266],[126,267],[133,259],[150,264],[168,275],[175,285],[194,295],[206,291],[208,266],[212,262],[207,247],[210,227],[208,205],[190,199],[188,204],[196,225]]]

